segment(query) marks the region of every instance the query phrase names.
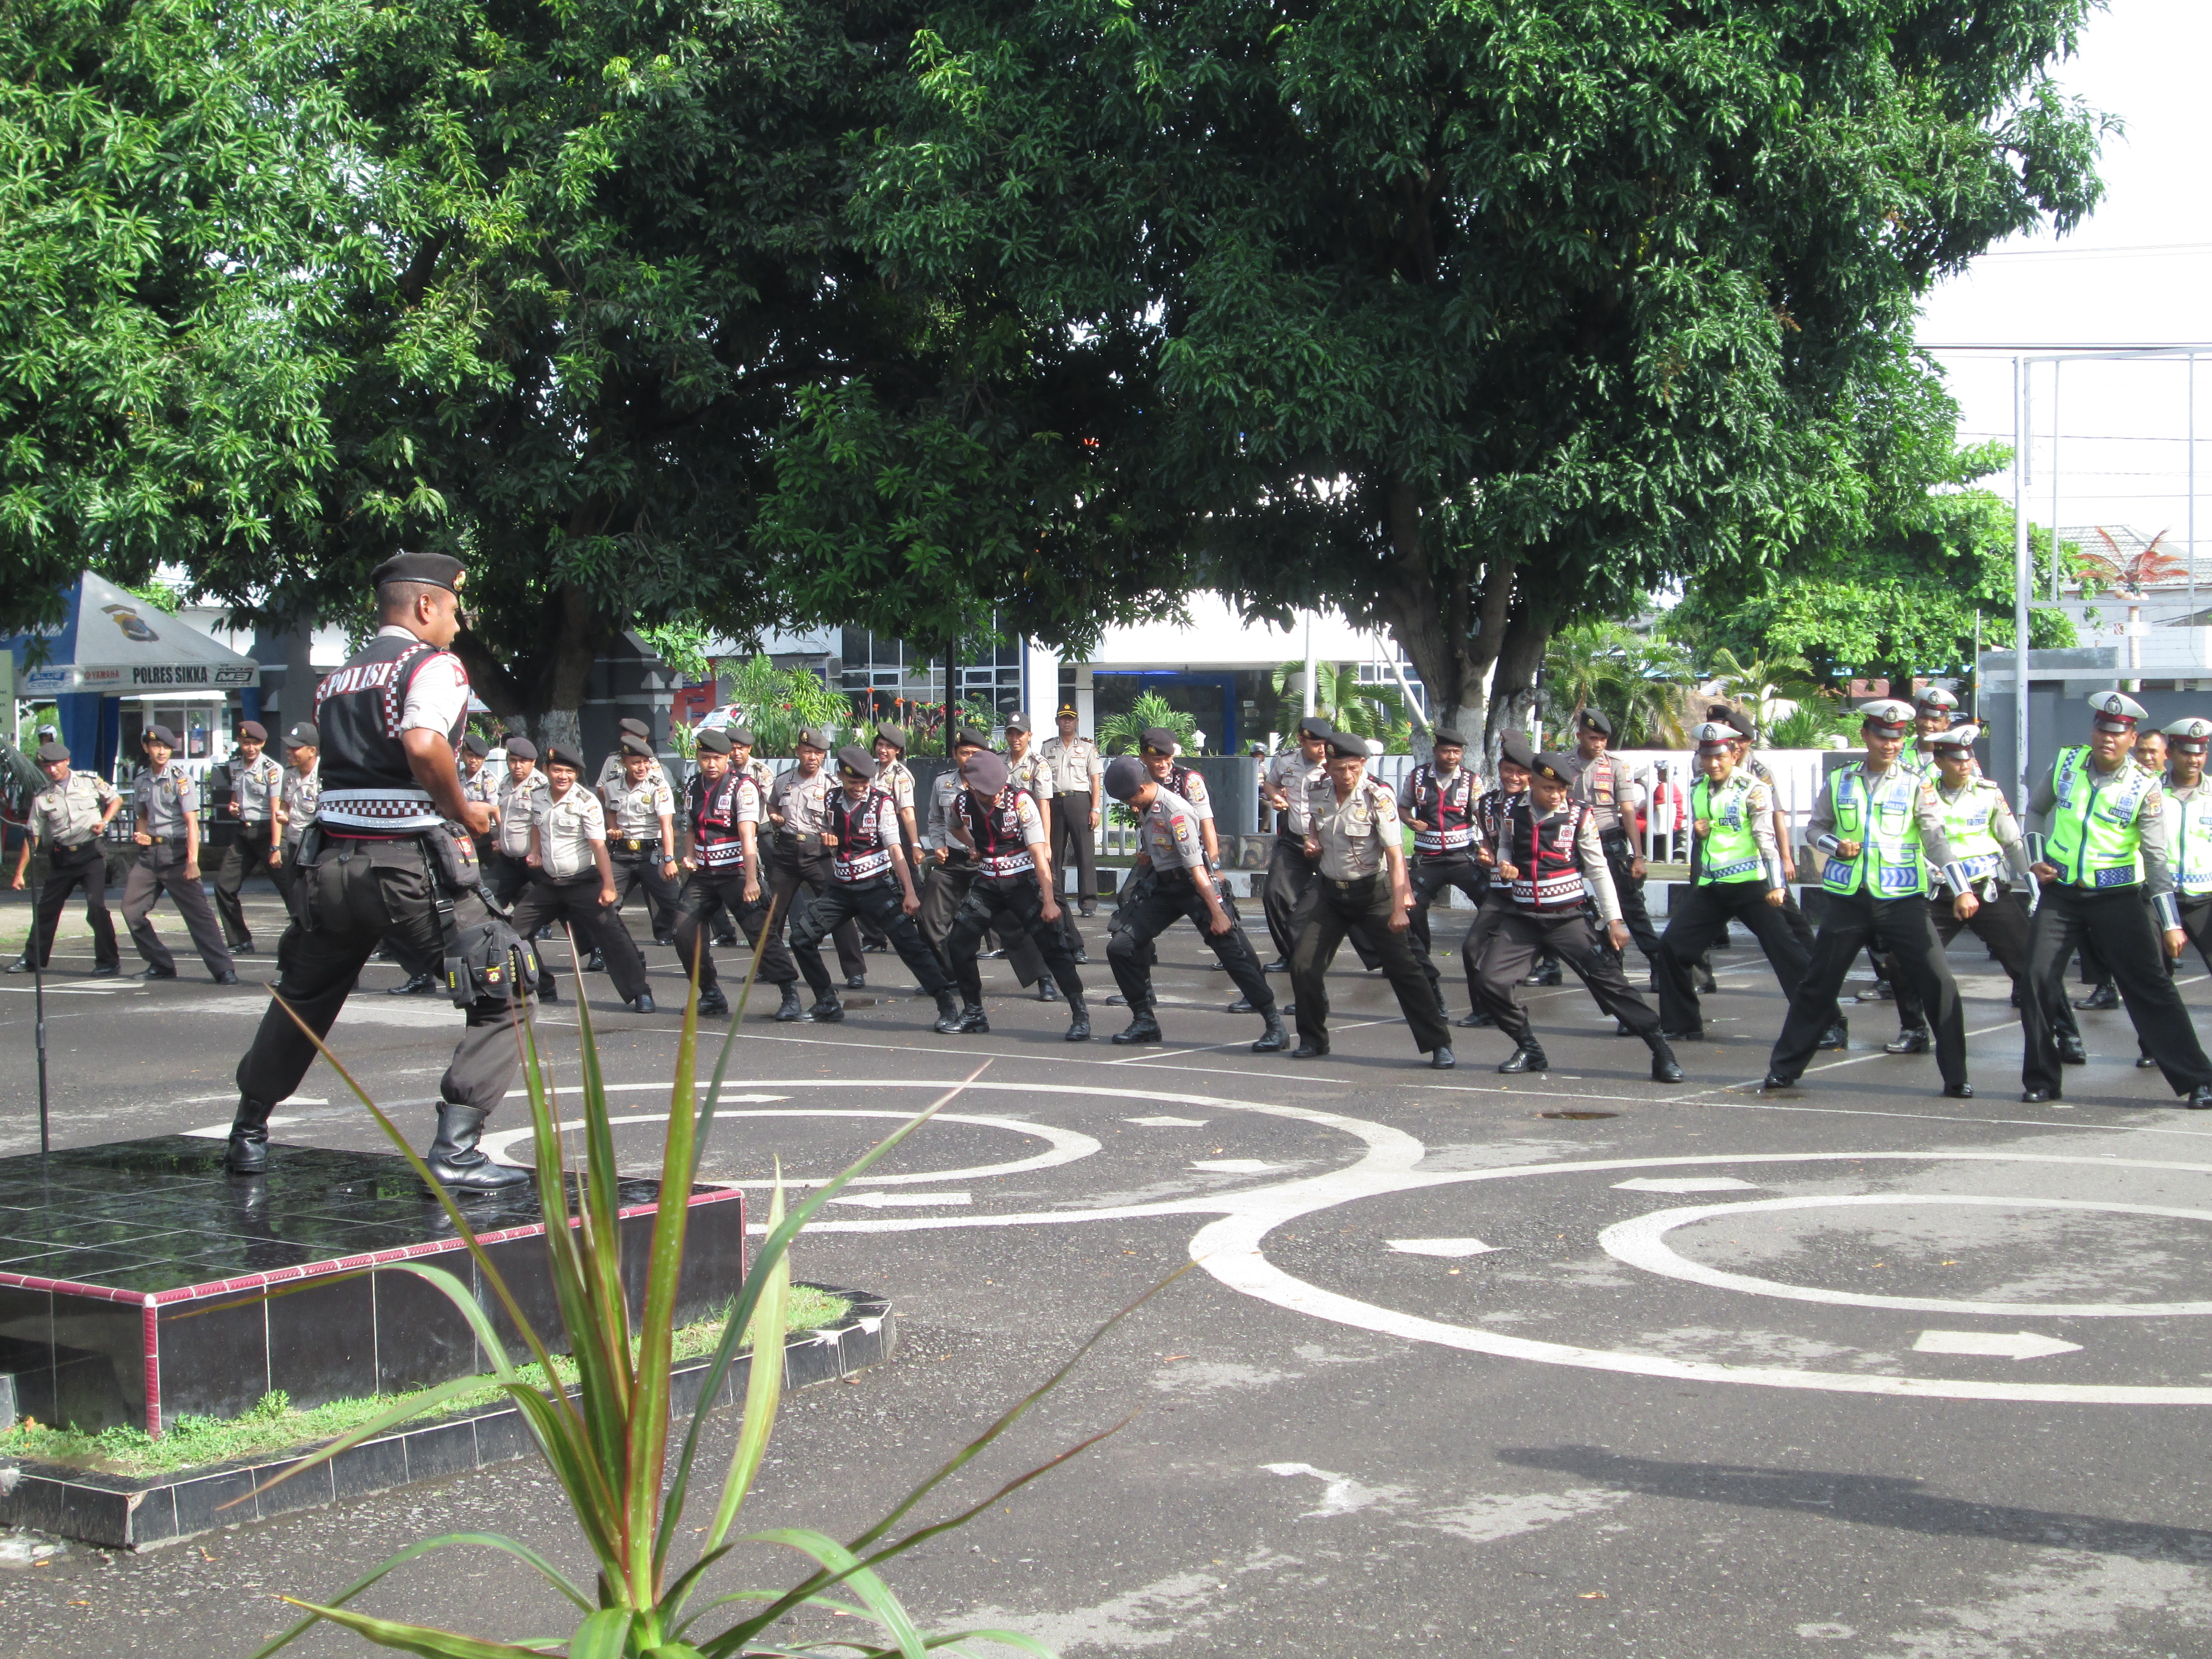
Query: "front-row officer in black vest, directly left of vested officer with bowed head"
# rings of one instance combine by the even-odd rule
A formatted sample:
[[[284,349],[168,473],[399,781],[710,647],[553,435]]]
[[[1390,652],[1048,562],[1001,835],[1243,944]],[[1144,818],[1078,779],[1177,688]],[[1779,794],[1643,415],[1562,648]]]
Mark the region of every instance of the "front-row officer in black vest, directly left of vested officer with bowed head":
[[[938,1004],[936,1029],[953,1033],[960,1029],[960,1000],[953,982],[945,975],[920,931],[914,914],[922,907],[914,891],[914,874],[907,869],[907,849],[900,845],[898,801],[889,790],[876,785],[876,757],[856,743],[836,752],[838,790],[830,796],[827,827],[823,845],[830,849],[830,887],[814,896],[807,914],[792,922],[792,956],[799,971],[814,989],[814,1006],[807,1011],[816,1020],[838,1022],[845,1004],[838,1002],[830,984],[830,969],[823,962],[823,940],[852,920],[867,916],[907,964],[922,993]]]

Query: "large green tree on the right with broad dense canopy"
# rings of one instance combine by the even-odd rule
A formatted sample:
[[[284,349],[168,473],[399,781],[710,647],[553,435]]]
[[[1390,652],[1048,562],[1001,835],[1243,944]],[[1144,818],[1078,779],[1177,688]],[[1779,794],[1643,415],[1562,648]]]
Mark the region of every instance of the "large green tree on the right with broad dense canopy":
[[[856,219],[1026,363],[1126,354],[1126,522],[1254,611],[1387,624],[1480,721],[1562,619],[1896,489],[1916,296],[2095,201],[2048,82],[2088,2],[971,0]]]

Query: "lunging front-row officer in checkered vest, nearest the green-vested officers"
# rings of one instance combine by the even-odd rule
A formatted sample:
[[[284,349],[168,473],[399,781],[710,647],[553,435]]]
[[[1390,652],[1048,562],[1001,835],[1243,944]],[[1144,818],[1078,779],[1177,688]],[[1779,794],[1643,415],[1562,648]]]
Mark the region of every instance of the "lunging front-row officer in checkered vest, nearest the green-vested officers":
[[[1528,1029],[1528,1011],[1513,1000],[1513,984],[1528,962],[1540,951],[1551,951],[1575,969],[1599,1009],[1644,1040],[1652,1055],[1652,1082],[1679,1084],[1681,1066],[1659,1033],[1659,1015],[1621,975],[1619,953],[1628,949],[1630,933],[1613,887],[1613,860],[1597,830],[1597,807],[1573,799],[1575,779],[1575,757],[1531,757],[1528,794],[1504,814],[1491,849],[1511,909],[1498,918],[1482,947],[1475,993],[1491,1022],[1513,1037],[1513,1053],[1498,1071],[1513,1075],[1551,1068],[1544,1044]],[[1606,942],[1599,942],[1590,925],[1593,896],[1597,920],[1606,925]]]

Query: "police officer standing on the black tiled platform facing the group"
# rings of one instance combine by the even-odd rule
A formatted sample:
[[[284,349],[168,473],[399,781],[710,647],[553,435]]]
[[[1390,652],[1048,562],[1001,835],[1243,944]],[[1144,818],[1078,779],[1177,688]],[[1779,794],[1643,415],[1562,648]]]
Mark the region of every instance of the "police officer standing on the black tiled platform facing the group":
[[[469,675],[447,646],[460,633],[460,560],[400,553],[376,566],[378,630],[316,690],[323,796],[299,847],[292,925],[276,947],[283,1006],[261,1015],[239,1062],[239,1110],[228,1164],[268,1168],[268,1117],[314,1064],[314,1044],[345,1006],[385,933],[445,960],[467,1031],[438,1082],[438,1133],[427,1164],[445,1186],[491,1190],[526,1181],[478,1146],[513,1082],[513,929],[487,907],[467,836],[491,814],[462,801],[453,745],[469,719]]]

